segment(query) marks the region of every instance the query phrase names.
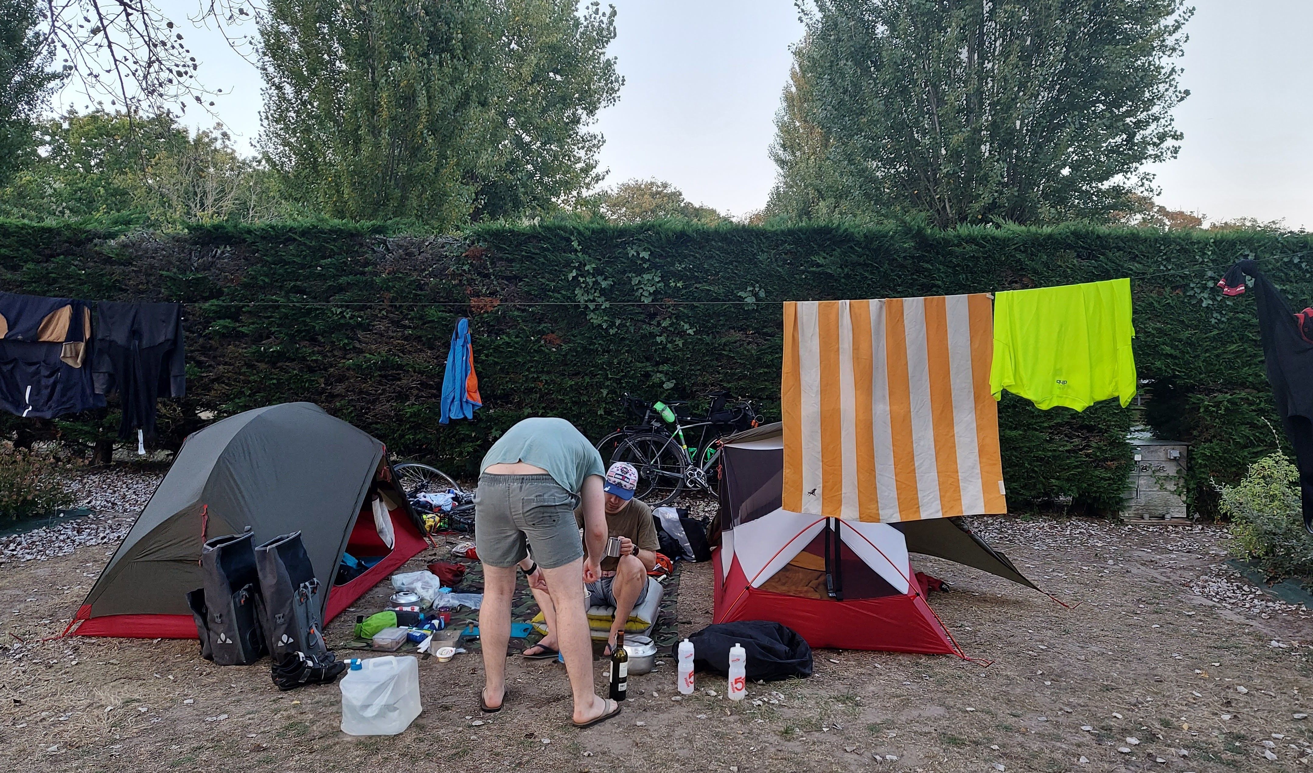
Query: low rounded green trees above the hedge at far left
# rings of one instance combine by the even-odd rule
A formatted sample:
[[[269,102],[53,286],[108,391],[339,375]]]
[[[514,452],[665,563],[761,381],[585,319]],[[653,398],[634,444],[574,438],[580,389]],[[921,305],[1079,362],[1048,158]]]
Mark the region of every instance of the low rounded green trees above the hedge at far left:
[[[41,154],[0,188],[0,214],[85,218],[137,213],[158,224],[259,220],[286,210],[269,172],[222,130],[192,135],[172,115],[68,113],[37,133]]]

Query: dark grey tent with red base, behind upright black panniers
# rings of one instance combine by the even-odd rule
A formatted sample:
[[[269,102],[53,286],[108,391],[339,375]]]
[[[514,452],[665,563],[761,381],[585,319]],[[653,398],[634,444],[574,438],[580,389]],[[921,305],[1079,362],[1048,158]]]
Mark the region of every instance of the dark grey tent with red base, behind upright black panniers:
[[[301,532],[328,588],[327,622],[424,550],[393,482],[383,444],[312,403],[217,421],[183,444],[71,627],[84,637],[197,638],[186,593],[202,584],[201,545],[246,529],[257,545]],[[376,520],[376,497],[386,521]],[[344,555],[369,568],[339,572]]]

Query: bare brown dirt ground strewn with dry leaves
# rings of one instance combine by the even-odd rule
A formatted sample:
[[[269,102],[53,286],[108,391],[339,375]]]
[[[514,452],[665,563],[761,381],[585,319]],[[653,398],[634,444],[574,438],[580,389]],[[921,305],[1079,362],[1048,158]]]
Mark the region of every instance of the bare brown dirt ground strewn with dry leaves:
[[[127,520],[127,516],[118,516]],[[13,770],[1281,770],[1313,755],[1302,608],[1220,562],[1212,528],[977,518],[1040,587],[932,559],[931,605],[974,661],[817,651],[807,680],[723,698],[674,661],[630,679],[624,713],[569,726],[555,661],[509,663],[481,717],[475,652],[423,661],[424,711],[399,736],[339,730],[336,685],[278,693],[264,664],[217,667],[196,642],[68,638],[114,543],[0,563],[0,760]],[[58,553],[58,551],[54,551]],[[433,560],[427,551],[408,564]],[[919,559],[919,560],[918,560]],[[710,564],[684,564],[679,627],[710,622]],[[523,579],[521,579],[523,581]],[[180,589],[181,592],[183,589]],[[378,587],[357,604],[379,606]],[[345,637],[341,616],[327,631]],[[516,642],[512,642],[516,644]],[[990,663],[991,661],[991,663]],[[597,661],[599,685],[603,663]],[[716,690],[716,696],[705,690]]]

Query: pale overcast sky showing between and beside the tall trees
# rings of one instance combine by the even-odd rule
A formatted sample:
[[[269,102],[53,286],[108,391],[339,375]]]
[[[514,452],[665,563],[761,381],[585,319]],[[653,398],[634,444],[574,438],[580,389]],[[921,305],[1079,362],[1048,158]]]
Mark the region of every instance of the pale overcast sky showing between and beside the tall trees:
[[[196,0],[163,0],[175,17]],[[760,209],[775,180],[772,119],[802,34],[792,0],[614,0],[612,45],[625,87],[604,110],[608,184],[658,177],[696,203]],[[1313,1],[1195,0],[1182,62],[1180,157],[1157,165],[1159,202],[1211,220],[1251,217],[1313,227]],[[260,77],[222,38],[190,35],[219,117],[259,134]],[[213,122],[190,117],[193,125]]]

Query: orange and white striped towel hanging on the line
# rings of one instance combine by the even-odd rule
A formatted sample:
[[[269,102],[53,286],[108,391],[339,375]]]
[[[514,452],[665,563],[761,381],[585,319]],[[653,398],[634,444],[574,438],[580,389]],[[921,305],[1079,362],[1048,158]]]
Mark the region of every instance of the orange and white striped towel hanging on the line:
[[[784,304],[784,509],[1004,513],[989,295]]]

